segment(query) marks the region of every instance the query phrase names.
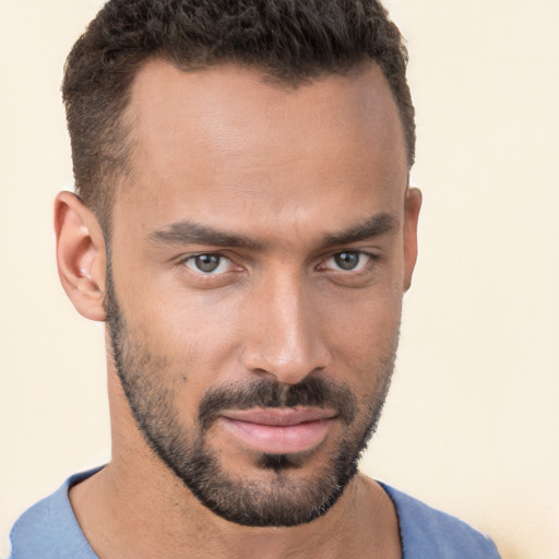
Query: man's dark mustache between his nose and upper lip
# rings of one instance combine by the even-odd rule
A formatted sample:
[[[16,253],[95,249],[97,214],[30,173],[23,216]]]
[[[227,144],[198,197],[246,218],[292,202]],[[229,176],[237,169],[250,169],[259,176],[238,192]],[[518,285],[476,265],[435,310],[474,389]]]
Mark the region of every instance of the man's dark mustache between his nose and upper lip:
[[[296,384],[259,379],[249,384],[227,384],[206,392],[200,401],[199,421],[202,431],[206,431],[227,409],[297,406],[333,409],[345,424],[355,419],[358,409],[357,399],[345,384],[321,377],[305,378]]]

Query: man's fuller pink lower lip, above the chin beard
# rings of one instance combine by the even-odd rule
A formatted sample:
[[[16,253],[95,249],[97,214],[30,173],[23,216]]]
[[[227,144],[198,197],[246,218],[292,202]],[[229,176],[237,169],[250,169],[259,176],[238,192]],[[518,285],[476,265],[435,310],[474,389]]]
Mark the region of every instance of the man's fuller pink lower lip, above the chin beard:
[[[222,417],[224,427],[243,444],[257,452],[292,454],[319,445],[328,435],[333,419],[317,419],[297,425],[276,426],[240,421]]]

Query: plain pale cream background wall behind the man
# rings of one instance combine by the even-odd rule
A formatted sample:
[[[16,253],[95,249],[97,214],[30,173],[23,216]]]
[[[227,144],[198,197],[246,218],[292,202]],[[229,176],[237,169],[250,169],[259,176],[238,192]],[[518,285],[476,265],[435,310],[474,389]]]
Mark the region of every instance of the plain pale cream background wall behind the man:
[[[59,95],[99,0],[0,0],[0,555],[16,515],[109,455],[103,329],[58,283]],[[417,106],[420,259],[362,468],[559,559],[559,2],[392,0]]]

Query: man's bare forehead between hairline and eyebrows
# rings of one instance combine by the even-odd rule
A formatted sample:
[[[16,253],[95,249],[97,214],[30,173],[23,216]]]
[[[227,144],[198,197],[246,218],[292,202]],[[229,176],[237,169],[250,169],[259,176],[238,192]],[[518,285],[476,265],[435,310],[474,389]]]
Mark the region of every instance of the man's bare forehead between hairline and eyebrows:
[[[248,212],[253,227],[272,213],[328,218],[344,203],[395,209],[407,181],[397,108],[374,64],[292,87],[234,64],[186,72],[151,61],[128,117],[133,179],[116,218],[124,205],[154,226],[192,213],[212,221],[216,209],[235,229]]]

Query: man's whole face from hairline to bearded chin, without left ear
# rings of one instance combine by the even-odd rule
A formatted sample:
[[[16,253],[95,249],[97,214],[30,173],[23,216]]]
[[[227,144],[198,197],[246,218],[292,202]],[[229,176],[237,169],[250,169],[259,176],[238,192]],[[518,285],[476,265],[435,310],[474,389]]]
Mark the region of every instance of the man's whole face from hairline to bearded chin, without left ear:
[[[151,62],[127,118],[106,306],[138,427],[217,514],[308,522],[373,431],[415,260],[389,86]]]

